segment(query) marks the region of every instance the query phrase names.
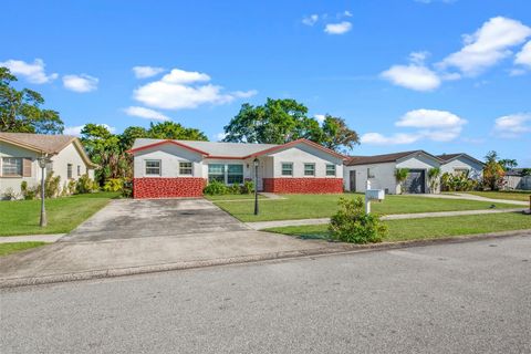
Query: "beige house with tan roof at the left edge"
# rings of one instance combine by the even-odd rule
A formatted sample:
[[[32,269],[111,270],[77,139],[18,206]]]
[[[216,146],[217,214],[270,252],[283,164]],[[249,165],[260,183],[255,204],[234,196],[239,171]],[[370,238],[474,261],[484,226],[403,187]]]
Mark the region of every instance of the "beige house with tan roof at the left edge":
[[[87,174],[94,178],[94,165],[75,136],[30,133],[0,133],[0,198],[8,189],[20,194],[23,180],[29,187],[41,183],[38,157],[49,156],[46,174],[61,177],[61,187]]]

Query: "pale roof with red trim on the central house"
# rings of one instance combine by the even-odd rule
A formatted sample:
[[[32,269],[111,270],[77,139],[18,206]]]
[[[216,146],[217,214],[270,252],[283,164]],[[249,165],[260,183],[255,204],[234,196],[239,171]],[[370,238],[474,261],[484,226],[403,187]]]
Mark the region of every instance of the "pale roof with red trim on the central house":
[[[170,139],[149,139],[149,138],[137,138],[133,144],[133,147],[128,153],[136,153],[147,148],[153,148],[164,144],[174,144],[183,148],[196,152],[204,155],[207,158],[237,158],[244,159],[257,157],[261,155],[267,155],[289,148],[296,144],[305,144],[313,146],[317,149],[325,152],[326,154],[333,155],[339,158],[344,158],[343,155],[337,154],[334,150],[325,148],[319,144],[306,139],[298,139],[287,144],[251,144],[251,143],[217,143],[217,142],[197,142],[197,140],[170,140]]]

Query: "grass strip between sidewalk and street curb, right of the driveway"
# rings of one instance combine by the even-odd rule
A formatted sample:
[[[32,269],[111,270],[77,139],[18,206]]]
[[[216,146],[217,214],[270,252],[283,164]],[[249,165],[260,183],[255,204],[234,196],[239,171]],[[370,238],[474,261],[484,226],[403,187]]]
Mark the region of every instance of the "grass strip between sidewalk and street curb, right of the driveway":
[[[460,235],[531,229],[531,216],[517,212],[460,217],[405,219],[384,221],[389,233],[384,242],[434,239]],[[300,236],[305,239],[327,239],[327,225],[293,226],[267,231]]]

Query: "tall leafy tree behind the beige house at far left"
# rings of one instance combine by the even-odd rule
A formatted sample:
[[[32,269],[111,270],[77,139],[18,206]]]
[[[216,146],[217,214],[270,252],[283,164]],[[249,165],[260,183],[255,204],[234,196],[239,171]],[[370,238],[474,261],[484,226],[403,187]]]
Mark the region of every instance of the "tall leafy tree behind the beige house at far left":
[[[0,132],[61,134],[64,124],[56,111],[43,110],[44,98],[29,88],[17,90],[17,76],[0,66]]]

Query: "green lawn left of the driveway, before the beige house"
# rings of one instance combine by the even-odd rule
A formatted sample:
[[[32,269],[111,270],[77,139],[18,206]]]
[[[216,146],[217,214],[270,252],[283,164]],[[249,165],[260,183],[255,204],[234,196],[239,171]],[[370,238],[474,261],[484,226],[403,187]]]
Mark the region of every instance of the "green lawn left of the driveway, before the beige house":
[[[0,236],[70,232],[117,196],[117,192],[96,192],[46,199],[44,228],[39,227],[41,200],[0,201]]]

